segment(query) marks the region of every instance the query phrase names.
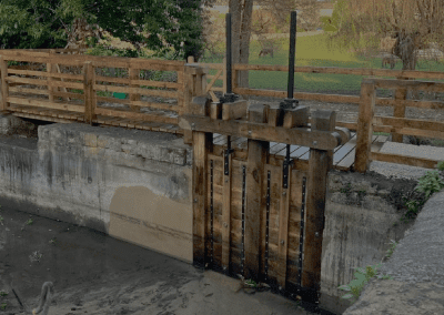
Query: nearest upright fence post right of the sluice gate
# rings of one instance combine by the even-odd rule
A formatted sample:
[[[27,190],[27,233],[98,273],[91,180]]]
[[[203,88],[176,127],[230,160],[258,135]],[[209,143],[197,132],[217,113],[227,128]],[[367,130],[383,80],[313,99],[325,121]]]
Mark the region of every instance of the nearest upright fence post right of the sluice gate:
[[[372,151],[373,116],[375,108],[374,79],[363,79],[361,84],[360,115],[357,116],[357,138],[354,170],[365,173],[370,166]]]

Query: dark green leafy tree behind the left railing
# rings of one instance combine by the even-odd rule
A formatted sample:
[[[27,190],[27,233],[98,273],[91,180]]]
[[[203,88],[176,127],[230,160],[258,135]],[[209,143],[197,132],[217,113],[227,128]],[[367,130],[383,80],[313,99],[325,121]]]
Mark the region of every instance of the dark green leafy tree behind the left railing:
[[[202,51],[202,9],[212,0],[2,0],[2,48],[60,48],[68,43],[74,22],[85,21],[113,37],[175,57]],[[80,19],[81,18],[81,19]],[[79,22],[80,21],[80,22]],[[71,34],[72,38],[72,34]],[[185,44],[181,44],[184,42]]]

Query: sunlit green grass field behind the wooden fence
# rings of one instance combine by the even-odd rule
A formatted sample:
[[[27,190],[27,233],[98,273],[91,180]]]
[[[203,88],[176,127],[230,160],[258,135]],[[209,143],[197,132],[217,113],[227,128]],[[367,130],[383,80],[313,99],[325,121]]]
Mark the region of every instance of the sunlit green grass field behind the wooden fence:
[[[250,44],[251,64],[289,64],[289,39],[276,40],[279,49],[271,55],[259,58],[260,44],[252,41]],[[224,51],[224,47],[220,47]],[[222,62],[222,58],[209,59],[205,55],[202,62]],[[296,60],[297,67],[340,67],[340,68],[373,68],[381,69],[382,59],[363,60],[352,53],[344,53],[340,50],[329,50],[326,34],[301,37],[296,39]],[[395,70],[402,69],[401,60],[397,60]],[[444,71],[444,64],[433,61],[420,60],[416,70],[423,71]],[[215,74],[211,70],[210,74]],[[330,91],[334,93],[359,94],[361,89],[362,75],[351,74],[324,74],[324,73],[295,73],[294,88],[306,92]],[[393,79],[386,77],[386,79]],[[444,82],[444,80],[436,80]],[[287,73],[280,71],[250,71],[249,83],[253,89],[286,90]],[[215,87],[222,87],[222,80],[215,82]],[[384,91],[382,91],[383,93]],[[385,91],[389,92],[389,91]]]

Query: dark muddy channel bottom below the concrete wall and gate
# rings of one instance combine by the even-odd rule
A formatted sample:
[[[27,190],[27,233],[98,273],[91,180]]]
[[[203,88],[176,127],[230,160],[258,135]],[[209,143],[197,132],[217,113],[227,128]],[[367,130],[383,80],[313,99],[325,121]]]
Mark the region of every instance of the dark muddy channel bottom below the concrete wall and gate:
[[[47,281],[54,284],[49,315],[311,314],[87,227],[9,209],[0,209],[0,314],[31,314]]]

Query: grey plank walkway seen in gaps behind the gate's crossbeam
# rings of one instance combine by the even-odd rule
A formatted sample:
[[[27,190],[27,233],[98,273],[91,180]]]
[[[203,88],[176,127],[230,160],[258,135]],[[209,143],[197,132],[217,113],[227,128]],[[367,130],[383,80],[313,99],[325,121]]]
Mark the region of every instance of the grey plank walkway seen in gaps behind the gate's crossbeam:
[[[386,135],[373,135],[372,152],[379,152],[381,146],[387,140]],[[213,135],[213,143],[216,145],[226,146],[226,136],[221,134]],[[246,150],[246,138],[232,138],[231,146],[233,149]],[[270,154],[276,156],[285,156],[286,145],[284,143],[270,143]],[[351,139],[347,143],[337,146],[333,154],[333,167],[341,171],[350,171],[354,165],[354,156],[356,151],[356,132],[351,132]],[[291,145],[290,156],[295,160],[309,160],[310,148]]]

